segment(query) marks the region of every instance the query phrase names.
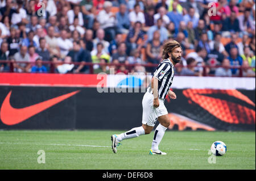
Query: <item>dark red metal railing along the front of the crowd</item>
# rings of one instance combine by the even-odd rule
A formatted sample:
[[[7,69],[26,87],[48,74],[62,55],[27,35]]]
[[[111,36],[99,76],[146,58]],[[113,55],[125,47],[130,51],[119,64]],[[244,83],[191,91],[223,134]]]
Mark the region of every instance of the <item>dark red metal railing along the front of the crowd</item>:
[[[2,72],[9,72],[9,73],[13,73],[14,72],[14,64],[35,64],[35,62],[27,62],[27,61],[13,61],[13,60],[0,60],[0,64],[7,64],[9,66],[9,70],[5,70]],[[46,64],[49,65],[49,71],[48,73],[55,73],[55,64],[57,65],[63,65],[63,64],[67,64],[65,62],[51,62],[51,61],[43,61],[42,64]],[[113,64],[113,63],[92,63],[92,62],[71,62],[69,64],[74,64],[74,65],[85,65],[85,66],[89,66],[89,73],[90,74],[94,74],[94,69],[93,66],[94,65],[107,65],[107,66],[122,66],[125,65],[126,68],[129,70],[129,72],[131,72],[130,70],[132,68],[134,68],[135,66],[144,66],[145,68],[152,68],[152,67],[157,67],[158,64],[151,64],[151,63],[147,63],[147,64],[123,64],[123,63],[119,63],[119,64]],[[175,68],[191,68],[192,66],[183,66],[183,65],[175,65]],[[207,74],[207,69],[213,69],[213,68],[220,68],[223,67],[222,65],[216,65],[216,66],[210,66],[210,65],[195,65],[194,67],[196,68],[203,68],[203,76],[209,76],[209,77],[214,77],[214,74]],[[225,68],[229,68],[229,69],[238,69],[239,73],[237,75],[232,75],[232,77],[243,77],[243,69],[254,69],[255,70],[255,66],[240,66],[240,65],[233,65],[233,66],[226,66]],[[1,69],[0,69],[1,70]],[[0,71],[1,73],[1,71]],[[180,74],[181,75],[181,74]],[[192,75],[192,76],[197,76],[197,75]]]

